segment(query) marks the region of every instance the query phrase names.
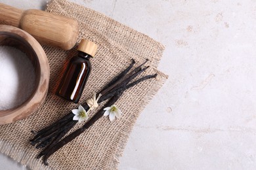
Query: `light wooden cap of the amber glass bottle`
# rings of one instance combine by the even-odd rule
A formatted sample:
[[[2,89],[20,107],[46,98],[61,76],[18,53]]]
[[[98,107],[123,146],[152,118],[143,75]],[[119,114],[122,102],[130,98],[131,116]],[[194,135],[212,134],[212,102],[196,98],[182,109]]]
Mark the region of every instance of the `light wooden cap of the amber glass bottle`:
[[[95,44],[95,42],[89,41],[87,39],[82,39],[77,50],[81,52],[85,52],[89,54],[90,56],[94,57],[96,50],[98,48],[98,45]]]

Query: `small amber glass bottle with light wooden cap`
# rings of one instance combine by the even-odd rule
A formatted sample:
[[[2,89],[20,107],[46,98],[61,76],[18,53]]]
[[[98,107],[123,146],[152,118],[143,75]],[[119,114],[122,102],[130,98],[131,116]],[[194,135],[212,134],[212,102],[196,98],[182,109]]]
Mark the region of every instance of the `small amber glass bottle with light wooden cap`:
[[[95,56],[97,48],[94,42],[82,39],[77,48],[78,54],[70,59],[56,95],[78,103],[91,72],[89,59]]]

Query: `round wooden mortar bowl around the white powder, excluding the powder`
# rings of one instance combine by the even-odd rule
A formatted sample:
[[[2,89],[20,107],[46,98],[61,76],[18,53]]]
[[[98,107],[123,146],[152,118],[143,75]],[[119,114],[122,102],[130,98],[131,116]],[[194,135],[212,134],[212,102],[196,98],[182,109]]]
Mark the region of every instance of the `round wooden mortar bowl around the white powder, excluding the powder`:
[[[35,69],[35,87],[32,94],[22,105],[9,110],[0,110],[0,125],[2,125],[26,118],[39,109],[47,95],[50,69],[45,51],[39,42],[22,29],[0,25],[0,45],[13,46],[24,52]]]

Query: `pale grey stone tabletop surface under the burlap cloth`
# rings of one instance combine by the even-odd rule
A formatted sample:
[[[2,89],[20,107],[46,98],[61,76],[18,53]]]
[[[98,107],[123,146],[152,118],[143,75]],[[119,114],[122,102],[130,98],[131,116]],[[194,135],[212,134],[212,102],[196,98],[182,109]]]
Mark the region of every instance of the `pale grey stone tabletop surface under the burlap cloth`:
[[[169,80],[137,120],[119,169],[255,169],[256,1],[73,1],[166,46],[159,69]],[[2,155],[0,164],[22,169]]]

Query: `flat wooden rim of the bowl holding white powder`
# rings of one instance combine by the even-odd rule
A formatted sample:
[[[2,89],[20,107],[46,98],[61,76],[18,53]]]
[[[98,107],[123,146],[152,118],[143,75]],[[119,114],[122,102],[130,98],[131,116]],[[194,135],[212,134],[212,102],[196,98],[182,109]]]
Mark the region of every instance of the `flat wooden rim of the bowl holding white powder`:
[[[18,27],[13,27],[10,25],[0,25],[0,32],[14,34],[28,42],[37,56],[36,61],[38,62],[39,67],[39,74],[37,74],[39,75],[39,78],[36,78],[37,82],[35,82],[35,89],[33,90],[32,95],[30,95],[30,97],[18,107],[14,107],[13,109],[9,110],[0,110],[0,125],[3,125],[27,118],[37,109],[39,109],[47,96],[50,67],[45,51],[39,42],[32,37],[32,35],[22,29],[19,29]]]

